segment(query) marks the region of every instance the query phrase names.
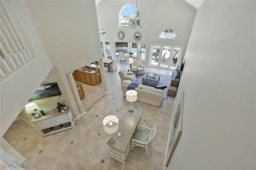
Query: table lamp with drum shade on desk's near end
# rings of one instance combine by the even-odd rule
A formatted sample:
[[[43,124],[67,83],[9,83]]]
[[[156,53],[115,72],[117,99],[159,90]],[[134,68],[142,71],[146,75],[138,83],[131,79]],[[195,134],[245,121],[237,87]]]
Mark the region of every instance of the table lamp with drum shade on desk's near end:
[[[109,141],[110,143],[115,142],[115,136],[114,133],[118,131],[118,118],[114,115],[109,115],[103,119],[103,128],[104,131],[108,134],[110,134]]]

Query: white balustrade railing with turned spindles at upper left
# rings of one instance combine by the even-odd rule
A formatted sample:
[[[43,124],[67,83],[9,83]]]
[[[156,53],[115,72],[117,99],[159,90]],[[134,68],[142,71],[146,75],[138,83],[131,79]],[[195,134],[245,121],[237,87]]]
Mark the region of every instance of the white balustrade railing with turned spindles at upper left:
[[[30,54],[7,9],[0,6],[0,81],[14,74],[36,56]]]

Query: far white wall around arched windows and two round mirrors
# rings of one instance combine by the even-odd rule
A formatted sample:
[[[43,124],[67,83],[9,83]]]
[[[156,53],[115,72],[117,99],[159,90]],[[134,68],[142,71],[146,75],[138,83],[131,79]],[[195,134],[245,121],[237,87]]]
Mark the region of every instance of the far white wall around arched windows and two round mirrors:
[[[97,8],[98,24],[106,31],[100,35],[101,40],[111,42],[144,43],[149,55],[150,44],[183,46],[183,56],[196,15],[196,9],[183,0],[138,0],[137,8],[140,12],[140,25],[148,25],[139,29],[119,28],[119,13],[126,4],[136,5],[136,1],[101,0]],[[175,31],[176,39],[160,39],[160,33],[166,29]],[[118,31],[123,31],[125,38],[119,40]],[[133,35],[140,31],[142,39],[135,41]]]

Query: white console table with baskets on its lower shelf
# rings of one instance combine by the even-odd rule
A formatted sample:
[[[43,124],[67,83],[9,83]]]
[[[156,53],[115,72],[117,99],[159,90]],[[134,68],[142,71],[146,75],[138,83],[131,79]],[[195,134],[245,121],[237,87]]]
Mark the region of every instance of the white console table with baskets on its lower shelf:
[[[42,131],[42,129],[51,128],[68,122],[71,123],[71,126],[69,127],[62,127],[58,130],[52,129],[52,131],[48,133],[44,133]],[[36,128],[36,130],[42,137],[75,127],[75,121],[69,107],[67,107],[64,112],[60,113],[57,110],[46,111],[45,115],[41,116],[39,119],[32,117],[30,123],[32,123],[32,125]]]

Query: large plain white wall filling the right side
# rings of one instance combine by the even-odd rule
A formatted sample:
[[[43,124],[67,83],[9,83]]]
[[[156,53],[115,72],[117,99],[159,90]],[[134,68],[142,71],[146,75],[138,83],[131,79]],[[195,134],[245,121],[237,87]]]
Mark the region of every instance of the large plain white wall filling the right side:
[[[166,169],[256,169],[255,47],[255,1],[204,1],[176,97],[185,92],[182,134]]]

